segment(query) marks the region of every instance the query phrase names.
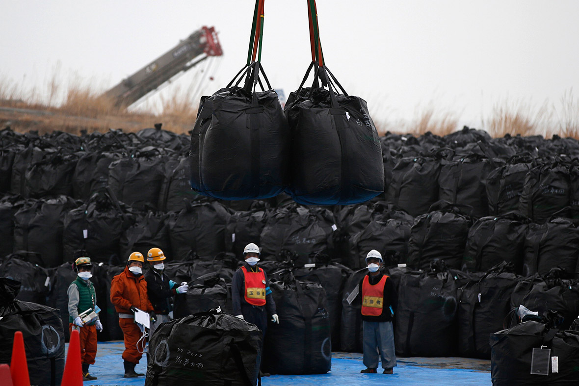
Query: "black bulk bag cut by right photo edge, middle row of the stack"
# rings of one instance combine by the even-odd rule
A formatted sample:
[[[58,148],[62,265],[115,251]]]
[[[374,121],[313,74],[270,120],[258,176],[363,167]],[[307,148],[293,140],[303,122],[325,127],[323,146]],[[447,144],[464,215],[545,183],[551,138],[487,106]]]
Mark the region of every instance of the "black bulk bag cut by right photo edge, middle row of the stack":
[[[559,267],[566,278],[579,278],[579,229],[569,219],[554,218],[544,224],[533,224],[525,238],[523,275],[549,273]]]

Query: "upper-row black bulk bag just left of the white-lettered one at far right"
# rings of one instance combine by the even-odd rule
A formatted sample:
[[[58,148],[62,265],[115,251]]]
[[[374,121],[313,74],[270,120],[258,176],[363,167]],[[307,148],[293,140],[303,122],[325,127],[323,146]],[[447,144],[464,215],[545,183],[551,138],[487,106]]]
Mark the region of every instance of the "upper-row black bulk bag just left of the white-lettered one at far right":
[[[511,157],[507,164],[489,172],[486,178],[489,215],[496,216],[519,210],[519,198],[532,163],[533,159],[530,157],[515,156]]]

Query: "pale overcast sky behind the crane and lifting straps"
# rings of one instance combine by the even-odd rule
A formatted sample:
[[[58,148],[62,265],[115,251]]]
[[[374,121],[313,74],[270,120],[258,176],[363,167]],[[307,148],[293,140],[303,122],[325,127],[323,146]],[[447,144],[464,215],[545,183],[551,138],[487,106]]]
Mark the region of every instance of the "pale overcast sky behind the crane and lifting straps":
[[[245,63],[254,4],[4,1],[0,77],[45,90],[60,63],[63,82],[105,90],[208,25],[223,48],[203,73],[214,77],[204,82],[212,93]],[[579,93],[577,0],[317,0],[317,9],[328,68],[375,120],[411,120],[432,104],[480,126],[505,100],[539,106]],[[289,94],[309,63],[306,0],[266,1],[262,64],[272,86]],[[171,87],[187,89],[195,71]]]

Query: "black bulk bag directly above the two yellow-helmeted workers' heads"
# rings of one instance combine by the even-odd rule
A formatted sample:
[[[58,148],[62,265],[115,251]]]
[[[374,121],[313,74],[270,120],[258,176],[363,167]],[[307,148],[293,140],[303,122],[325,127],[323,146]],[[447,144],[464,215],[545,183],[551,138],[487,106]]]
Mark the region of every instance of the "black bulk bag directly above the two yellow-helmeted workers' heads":
[[[120,262],[126,261],[135,251],[146,256],[153,247],[162,249],[166,256],[172,256],[167,220],[167,214],[153,211],[136,215],[134,224],[120,237]]]

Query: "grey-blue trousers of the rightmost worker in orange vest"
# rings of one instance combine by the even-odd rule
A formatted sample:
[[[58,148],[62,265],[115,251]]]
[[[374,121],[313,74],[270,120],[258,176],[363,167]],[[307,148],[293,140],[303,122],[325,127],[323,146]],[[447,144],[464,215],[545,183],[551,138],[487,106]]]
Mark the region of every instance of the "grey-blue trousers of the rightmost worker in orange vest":
[[[392,322],[364,321],[364,366],[378,369],[379,353],[383,369],[396,366]]]

